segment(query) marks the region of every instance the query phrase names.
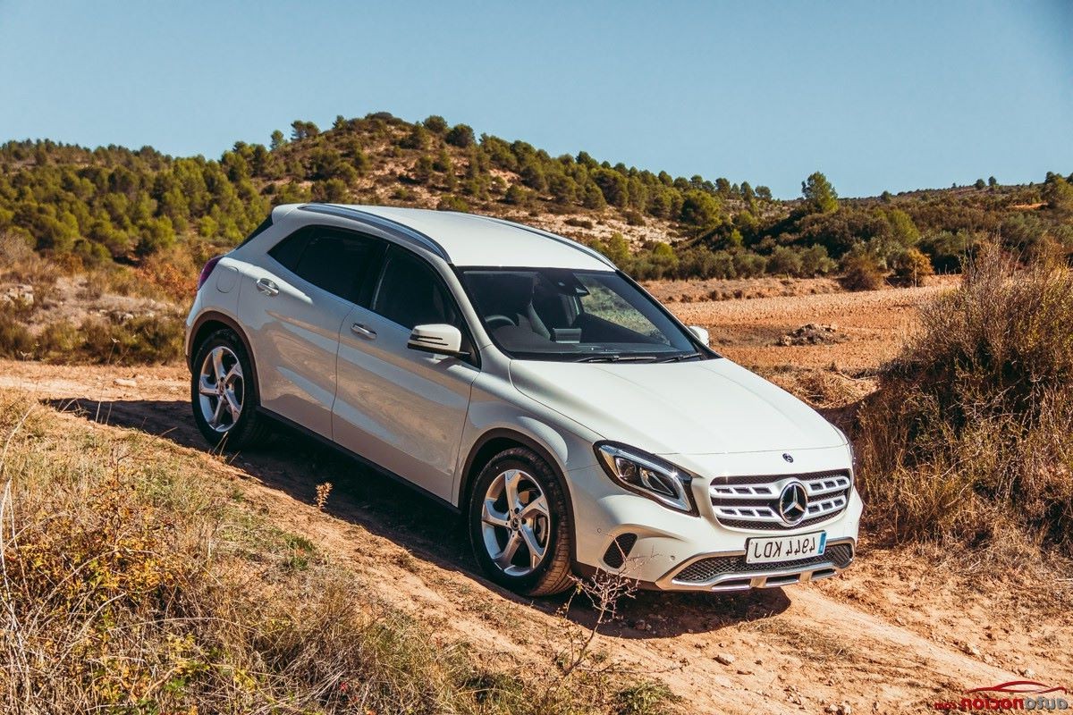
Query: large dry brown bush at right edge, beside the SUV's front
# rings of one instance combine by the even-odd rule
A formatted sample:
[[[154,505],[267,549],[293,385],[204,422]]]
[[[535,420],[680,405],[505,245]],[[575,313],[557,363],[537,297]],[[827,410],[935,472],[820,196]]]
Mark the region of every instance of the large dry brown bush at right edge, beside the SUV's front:
[[[1073,274],[982,253],[858,416],[888,539],[1073,553]]]

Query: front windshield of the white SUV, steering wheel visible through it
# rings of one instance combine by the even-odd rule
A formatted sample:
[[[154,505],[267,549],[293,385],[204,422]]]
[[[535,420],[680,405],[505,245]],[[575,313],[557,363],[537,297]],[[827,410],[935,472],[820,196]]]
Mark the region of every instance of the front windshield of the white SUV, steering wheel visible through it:
[[[655,362],[707,357],[618,273],[464,268],[461,275],[488,334],[514,358]]]

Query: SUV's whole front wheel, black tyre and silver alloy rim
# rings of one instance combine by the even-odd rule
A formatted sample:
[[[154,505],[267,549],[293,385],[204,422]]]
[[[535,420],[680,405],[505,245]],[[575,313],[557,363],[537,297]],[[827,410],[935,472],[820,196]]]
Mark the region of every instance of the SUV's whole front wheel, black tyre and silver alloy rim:
[[[567,495],[547,462],[529,449],[508,449],[484,466],[467,521],[473,555],[496,583],[524,596],[549,596],[571,586]]]

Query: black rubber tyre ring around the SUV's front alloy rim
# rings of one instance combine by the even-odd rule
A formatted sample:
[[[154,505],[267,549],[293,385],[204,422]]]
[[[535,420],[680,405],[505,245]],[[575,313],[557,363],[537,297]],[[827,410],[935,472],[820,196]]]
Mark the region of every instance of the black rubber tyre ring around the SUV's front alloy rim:
[[[503,570],[500,569],[495,562],[493,562],[491,556],[488,555],[488,551],[484,546],[484,534],[482,531],[483,522],[481,521],[484,496],[487,493],[488,487],[491,485],[493,480],[506,470],[521,470],[528,474],[540,485],[548,505],[548,518],[550,523],[544,561],[533,572],[527,574],[526,576],[510,576],[503,572]],[[481,565],[482,570],[490,580],[501,586],[521,594],[528,594],[539,589],[547,575],[548,569],[554,565],[559,540],[570,538],[569,530],[564,527],[567,524],[565,520],[569,519],[569,515],[559,513],[560,509],[557,508],[558,506],[564,504],[563,497],[563,490],[550,467],[544,462],[544,460],[540,459],[535,455],[532,455],[528,449],[517,448],[501,452],[493,458],[493,460],[488,462],[483,470],[481,470],[481,474],[473,483],[473,490],[470,494],[467,527],[469,531],[470,543],[473,547],[473,555]]]

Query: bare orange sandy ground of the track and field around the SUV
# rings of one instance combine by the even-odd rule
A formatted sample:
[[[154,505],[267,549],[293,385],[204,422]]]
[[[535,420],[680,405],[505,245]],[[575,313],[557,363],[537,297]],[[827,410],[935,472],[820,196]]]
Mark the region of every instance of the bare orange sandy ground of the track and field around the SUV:
[[[720,349],[746,364],[867,370],[897,349],[915,306],[941,289],[673,309],[709,327]],[[838,323],[850,338],[838,345],[767,344],[810,322]],[[229,461],[208,455],[190,417],[187,381],[182,366],[0,363],[0,388],[32,390],[67,419],[139,430],[202,452],[207,479],[233,482],[282,528],[368,575],[444,637],[466,639],[488,658],[554,656],[562,599],[519,599],[482,579],[456,517],[293,435]],[[335,489],[320,512],[314,489],[325,481]],[[966,574],[957,563],[873,550],[865,536],[857,563],[825,582],[735,596],[641,593],[620,606],[620,620],[597,643],[636,672],[663,680],[690,713],[824,713],[838,705],[854,713],[935,712],[937,700],[1026,676],[1073,687],[1069,613],[1041,612],[1029,582],[1008,584],[985,565]],[[991,585],[969,589],[969,579]],[[575,602],[565,617],[587,626],[593,615]]]

